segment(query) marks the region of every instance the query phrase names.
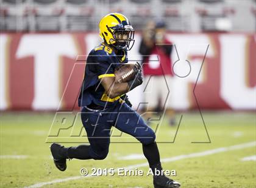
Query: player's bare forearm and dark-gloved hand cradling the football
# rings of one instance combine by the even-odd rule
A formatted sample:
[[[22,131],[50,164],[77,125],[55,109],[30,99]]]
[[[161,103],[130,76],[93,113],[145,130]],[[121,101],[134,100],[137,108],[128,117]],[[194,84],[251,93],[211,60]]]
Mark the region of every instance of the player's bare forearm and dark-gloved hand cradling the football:
[[[123,95],[135,87],[140,86],[142,82],[141,72],[138,72],[135,79],[123,83],[115,82],[115,77],[101,78],[101,84],[110,98]]]

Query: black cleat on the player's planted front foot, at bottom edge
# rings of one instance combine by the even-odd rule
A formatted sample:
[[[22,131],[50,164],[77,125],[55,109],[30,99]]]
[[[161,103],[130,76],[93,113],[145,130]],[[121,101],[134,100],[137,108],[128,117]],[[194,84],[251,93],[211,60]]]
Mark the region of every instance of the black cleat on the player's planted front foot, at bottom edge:
[[[154,188],[178,188],[180,183],[167,178],[165,175],[154,176]]]

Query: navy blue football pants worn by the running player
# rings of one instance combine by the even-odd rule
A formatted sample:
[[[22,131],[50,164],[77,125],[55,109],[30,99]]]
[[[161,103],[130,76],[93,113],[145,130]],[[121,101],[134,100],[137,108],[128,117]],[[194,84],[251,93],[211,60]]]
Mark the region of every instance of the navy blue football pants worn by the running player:
[[[81,118],[90,143],[90,146],[79,146],[81,149],[87,147],[88,150],[88,156],[83,159],[104,159],[107,156],[112,126],[137,138],[143,146],[155,141],[155,133],[151,127],[126,103],[118,103],[102,112],[91,112],[83,107]]]

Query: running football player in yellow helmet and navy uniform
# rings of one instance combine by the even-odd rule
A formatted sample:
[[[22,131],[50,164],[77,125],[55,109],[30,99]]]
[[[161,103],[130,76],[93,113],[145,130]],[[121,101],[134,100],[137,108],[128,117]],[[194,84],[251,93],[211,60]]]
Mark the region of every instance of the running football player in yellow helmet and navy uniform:
[[[136,76],[129,82],[116,82],[115,69],[126,63],[127,50],[134,43],[134,30],[126,16],[110,13],[99,22],[99,35],[103,39],[88,55],[85,77],[79,95],[81,119],[90,145],[64,147],[51,145],[55,166],[66,170],[66,159],[106,158],[110,144],[110,129],[134,136],[140,141],[149,167],[154,173],[154,187],[180,187],[180,184],[165,175],[162,170],[154,131],[143,118],[131,108],[126,93],[143,82],[141,69],[134,66]]]

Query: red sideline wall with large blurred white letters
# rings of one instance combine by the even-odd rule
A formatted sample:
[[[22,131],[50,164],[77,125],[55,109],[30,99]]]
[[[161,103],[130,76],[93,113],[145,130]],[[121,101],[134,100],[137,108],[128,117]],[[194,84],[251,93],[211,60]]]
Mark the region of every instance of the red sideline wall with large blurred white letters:
[[[255,33],[168,33],[167,38],[176,45],[172,64],[180,59],[177,74],[187,73],[186,59],[191,64],[188,76],[172,78],[168,100],[174,109],[196,109],[194,94],[202,109],[256,109]],[[141,36],[135,39],[129,58],[139,60]],[[1,33],[0,110],[78,109],[86,55],[98,43],[97,33]],[[129,96],[138,106],[143,86]]]

